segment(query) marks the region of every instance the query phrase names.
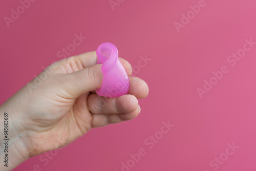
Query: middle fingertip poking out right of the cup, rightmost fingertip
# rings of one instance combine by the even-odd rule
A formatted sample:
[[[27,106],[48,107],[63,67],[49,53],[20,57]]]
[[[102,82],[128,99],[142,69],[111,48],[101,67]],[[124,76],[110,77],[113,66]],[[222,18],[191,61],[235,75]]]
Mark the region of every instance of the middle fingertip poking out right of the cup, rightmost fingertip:
[[[147,83],[138,78],[130,77],[130,89],[128,94],[134,95],[136,98],[145,98],[148,95],[148,86]]]

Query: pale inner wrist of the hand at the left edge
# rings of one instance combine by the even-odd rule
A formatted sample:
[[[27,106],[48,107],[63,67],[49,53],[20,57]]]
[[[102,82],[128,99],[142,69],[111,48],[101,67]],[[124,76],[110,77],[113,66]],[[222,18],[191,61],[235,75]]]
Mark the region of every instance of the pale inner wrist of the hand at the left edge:
[[[8,101],[0,106],[0,170],[12,170],[30,157],[22,114],[15,107],[9,106]]]

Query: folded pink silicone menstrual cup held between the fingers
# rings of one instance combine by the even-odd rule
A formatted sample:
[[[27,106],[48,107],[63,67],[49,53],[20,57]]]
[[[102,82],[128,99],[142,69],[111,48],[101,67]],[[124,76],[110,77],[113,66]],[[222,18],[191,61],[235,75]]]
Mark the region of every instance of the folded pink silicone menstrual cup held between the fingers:
[[[100,89],[96,89],[99,96],[119,97],[127,94],[130,87],[129,77],[118,59],[118,50],[110,42],[104,42],[96,51],[97,64],[102,63],[103,81]]]

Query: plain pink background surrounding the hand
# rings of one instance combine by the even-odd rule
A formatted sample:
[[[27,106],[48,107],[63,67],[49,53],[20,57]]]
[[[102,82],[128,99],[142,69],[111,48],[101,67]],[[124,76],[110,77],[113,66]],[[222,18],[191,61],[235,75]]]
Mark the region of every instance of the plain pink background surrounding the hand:
[[[69,56],[109,41],[133,67],[140,56],[151,58],[136,74],[150,88],[148,97],[139,100],[136,119],[93,129],[52,153],[48,164],[39,155],[15,170],[39,165],[41,170],[119,171],[130,154],[144,148],[146,155],[131,170],[211,171],[217,166],[209,162],[225,158],[233,142],[239,148],[217,164],[218,170],[256,170],[256,47],[236,66],[227,62],[246,38],[256,41],[256,2],[205,0],[207,5],[178,33],[174,22],[180,23],[181,14],[198,2],[129,0],[113,11],[109,0],[35,1],[7,27],[4,16],[11,17],[20,3],[2,1],[1,104],[42,67],[59,60],[57,52],[72,44],[75,34],[87,39]],[[229,72],[200,98],[197,88],[203,89],[204,79],[209,81],[222,66]],[[144,141],[168,120],[175,126],[149,149]]]

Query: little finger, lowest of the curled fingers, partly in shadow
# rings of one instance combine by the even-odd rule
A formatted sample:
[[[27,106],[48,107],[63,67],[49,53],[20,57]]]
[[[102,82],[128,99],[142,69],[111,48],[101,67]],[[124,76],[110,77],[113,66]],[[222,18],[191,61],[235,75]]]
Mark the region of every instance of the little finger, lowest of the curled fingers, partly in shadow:
[[[92,127],[105,126],[111,123],[119,123],[136,118],[140,113],[140,107],[131,113],[113,115],[92,115]]]

